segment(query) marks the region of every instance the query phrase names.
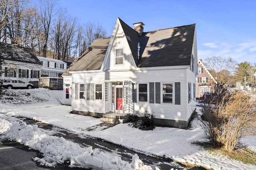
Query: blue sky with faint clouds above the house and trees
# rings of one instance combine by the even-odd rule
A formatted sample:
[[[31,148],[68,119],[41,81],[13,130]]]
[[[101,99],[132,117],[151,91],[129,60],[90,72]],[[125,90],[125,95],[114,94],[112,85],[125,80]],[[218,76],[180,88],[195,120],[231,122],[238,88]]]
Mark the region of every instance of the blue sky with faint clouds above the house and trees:
[[[101,24],[112,34],[117,17],[144,32],[196,24],[198,59],[213,55],[256,63],[254,0],[59,0],[80,23]]]

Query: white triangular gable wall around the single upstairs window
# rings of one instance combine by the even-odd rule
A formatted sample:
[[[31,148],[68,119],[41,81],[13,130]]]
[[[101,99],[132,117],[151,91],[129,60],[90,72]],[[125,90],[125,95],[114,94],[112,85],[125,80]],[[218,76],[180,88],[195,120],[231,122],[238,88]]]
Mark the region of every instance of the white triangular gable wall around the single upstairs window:
[[[124,69],[134,69],[134,60],[132,57],[132,53],[130,51],[128,42],[130,40],[126,39],[126,36],[123,33],[122,27],[118,28],[118,32],[116,34],[116,38],[113,43],[113,47],[110,51],[110,56],[106,61],[106,70],[124,70]],[[115,65],[115,56],[116,49],[123,49],[124,52],[124,63],[121,65]]]

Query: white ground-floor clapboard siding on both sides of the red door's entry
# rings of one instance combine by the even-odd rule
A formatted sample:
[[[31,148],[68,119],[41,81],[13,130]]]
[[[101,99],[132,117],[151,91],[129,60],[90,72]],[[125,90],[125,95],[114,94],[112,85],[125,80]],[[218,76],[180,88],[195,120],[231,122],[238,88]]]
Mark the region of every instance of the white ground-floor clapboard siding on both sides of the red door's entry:
[[[104,81],[132,81],[133,83],[175,83],[180,82],[180,105],[170,103],[149,103],[139,102],[134,103],[134,108],[130,110],[130,113],[140,111],[154,112],[154,115],[158,119],[171,119],[187,121],[194,111],[195,102],[192,100],[188,103],[188,82],[191,82],[191,94],[193,97],[193,83],[195,83],[195,75],[190,69],[158,69],[158,70],[130,70],[130,71],[103,71],[103,72],[90,72],[90,73],[73,73],[73,83],[102,83],[104,87]],[[72,86],[74,87],[74,85]],[[138,89],[138,88],[137,88]],[[102,89],[104,90],[104,89]],[[72,94],[74,94],[74,88],[72,88]],[[149,93],[149,91],[148,91]],[[138,91],[137,91],[138,95]],[[74,96],[74,95],[73,95]],[[72,107],[74,110],[90,111],[97,113],[104,113],[102,100],[86,101],[83,99],[75,100],[72,97]]]

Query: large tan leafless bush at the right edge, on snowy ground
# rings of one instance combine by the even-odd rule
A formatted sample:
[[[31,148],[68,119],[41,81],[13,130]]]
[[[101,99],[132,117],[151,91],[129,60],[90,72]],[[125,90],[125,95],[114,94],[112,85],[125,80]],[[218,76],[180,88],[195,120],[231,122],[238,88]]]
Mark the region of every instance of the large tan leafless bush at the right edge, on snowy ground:
[[[213,103],[202,105],[201,126],[216,147],[234,150],[240,140],[256,134],[255,102],[244,93],[222,93]]]

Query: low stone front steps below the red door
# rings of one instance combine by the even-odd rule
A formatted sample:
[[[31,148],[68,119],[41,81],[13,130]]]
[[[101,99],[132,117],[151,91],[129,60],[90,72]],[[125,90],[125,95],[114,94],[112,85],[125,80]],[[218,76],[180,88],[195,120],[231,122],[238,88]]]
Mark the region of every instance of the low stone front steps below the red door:
[[[130,121],[130,114],[125,113],[124,115],[122,113],[107,113],[103,114],[100,118],[100,121],[105,123],[127,123]]]

